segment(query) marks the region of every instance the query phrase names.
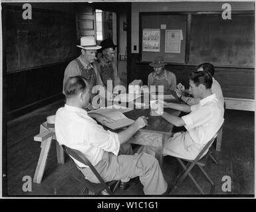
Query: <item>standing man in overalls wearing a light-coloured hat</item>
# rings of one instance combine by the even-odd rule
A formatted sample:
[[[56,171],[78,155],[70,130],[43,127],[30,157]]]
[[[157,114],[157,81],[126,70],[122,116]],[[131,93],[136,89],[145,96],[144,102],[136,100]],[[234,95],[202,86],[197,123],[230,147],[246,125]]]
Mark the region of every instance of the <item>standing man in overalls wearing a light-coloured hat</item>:
[[[81,54],[78,58],[72,60],[66,70],[64,71],[63,79],[63,94],[64,93],[64,84],[70,77],[74,76],[83,76],[86,78],[89,84],[90,92],[94,85],[103,85],[102,79],[100,78],[100,72],[98,71],[98,66],[96,64],[96,52],[101,46],[96,44],[94,36],[86,36],[80,38],[80,45],[76,45],[81,48]],[[90,103],[94,95],[90,96]]]

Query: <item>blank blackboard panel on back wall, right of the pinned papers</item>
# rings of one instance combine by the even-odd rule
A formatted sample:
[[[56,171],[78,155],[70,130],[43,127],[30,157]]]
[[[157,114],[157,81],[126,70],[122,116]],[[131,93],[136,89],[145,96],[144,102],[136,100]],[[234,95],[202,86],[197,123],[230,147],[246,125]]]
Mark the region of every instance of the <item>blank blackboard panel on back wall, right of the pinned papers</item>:
[[[255,61],[255,17],[232,14],[192,15],[190,63],[215,66],[252,66]]]

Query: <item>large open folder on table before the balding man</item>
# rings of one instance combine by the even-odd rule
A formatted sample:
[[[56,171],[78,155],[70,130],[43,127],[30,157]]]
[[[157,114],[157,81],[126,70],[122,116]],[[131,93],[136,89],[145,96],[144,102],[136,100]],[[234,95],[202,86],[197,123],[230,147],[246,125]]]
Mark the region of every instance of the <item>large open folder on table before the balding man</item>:
[[[123,127],[128,127],[134,123],[134,120],[128,119],[124,114],[122,114],[120,111],[100,111],[100,112],[94,112],[90,111],[91,113],[99,113],[101,115],[104,115],[106,117],[109,117],[110,119],[114,120],[114,123],[104,123],[104,125],[112,130],[121,129]]]

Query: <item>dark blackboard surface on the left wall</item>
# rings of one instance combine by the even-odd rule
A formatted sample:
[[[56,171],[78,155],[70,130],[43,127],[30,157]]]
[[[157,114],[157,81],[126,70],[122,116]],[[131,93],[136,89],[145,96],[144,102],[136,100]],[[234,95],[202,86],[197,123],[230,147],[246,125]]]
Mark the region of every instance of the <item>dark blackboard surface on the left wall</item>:
[[[74,58],[75,15],[33,9],[32,19],[23,19],[23,10],[5,11],[5,53],[7,73],[64,62]]]

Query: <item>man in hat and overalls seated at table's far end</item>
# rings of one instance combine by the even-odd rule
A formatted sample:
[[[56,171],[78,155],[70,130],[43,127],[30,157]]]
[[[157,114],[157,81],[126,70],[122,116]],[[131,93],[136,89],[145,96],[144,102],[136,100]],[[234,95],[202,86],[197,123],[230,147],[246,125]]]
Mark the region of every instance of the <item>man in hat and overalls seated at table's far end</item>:
[[[164,66],[166,62],[162,56],[154,58],[153,62],[150,64],[154,68],[154,72],[150,73],[148,76],[148,87],[150,85],[156,86],[156,91],[158,91],[158,85],[164,85],[164,91],[168,92],[170,90],[174,91],[176,89],[176,76],[174,73],[167,71]]]

